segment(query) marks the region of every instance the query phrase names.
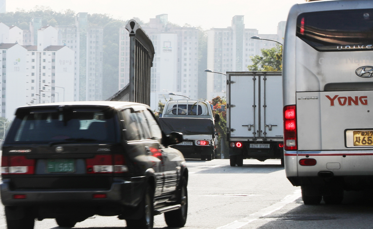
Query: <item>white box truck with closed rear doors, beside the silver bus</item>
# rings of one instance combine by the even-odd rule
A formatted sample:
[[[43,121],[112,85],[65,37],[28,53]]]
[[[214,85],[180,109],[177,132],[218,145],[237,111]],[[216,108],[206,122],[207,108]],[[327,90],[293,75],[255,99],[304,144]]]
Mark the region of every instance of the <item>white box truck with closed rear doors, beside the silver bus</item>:
[[[231,166],[244,158],[281,158],[281,72],[227,72],[227,140]]]

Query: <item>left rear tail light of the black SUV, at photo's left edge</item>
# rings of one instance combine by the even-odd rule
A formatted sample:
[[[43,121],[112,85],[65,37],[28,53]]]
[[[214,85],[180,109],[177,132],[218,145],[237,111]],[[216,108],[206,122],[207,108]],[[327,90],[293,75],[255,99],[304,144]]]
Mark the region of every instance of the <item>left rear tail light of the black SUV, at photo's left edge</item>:
[[[35,160],[25,156],[2,156],[1,174],[34,174]]]

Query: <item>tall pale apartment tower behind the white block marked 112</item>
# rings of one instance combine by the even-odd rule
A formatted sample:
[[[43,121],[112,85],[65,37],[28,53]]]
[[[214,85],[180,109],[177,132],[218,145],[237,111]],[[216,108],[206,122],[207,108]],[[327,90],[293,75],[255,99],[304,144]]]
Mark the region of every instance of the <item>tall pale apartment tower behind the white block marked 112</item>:
[[[57,25],[58,45],[74,51],[76,101],[103,100],[103,27],[88,25],[88,13],[78,13],[75,25]]]

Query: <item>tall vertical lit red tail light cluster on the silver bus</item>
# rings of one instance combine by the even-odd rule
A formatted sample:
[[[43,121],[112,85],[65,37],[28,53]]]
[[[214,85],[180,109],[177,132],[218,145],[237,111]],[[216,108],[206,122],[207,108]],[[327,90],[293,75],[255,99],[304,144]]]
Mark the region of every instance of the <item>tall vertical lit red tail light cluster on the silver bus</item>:
[[[285,150],[297,150],[297,115],[295,105],[283,108],[283,124],[283,145]]]

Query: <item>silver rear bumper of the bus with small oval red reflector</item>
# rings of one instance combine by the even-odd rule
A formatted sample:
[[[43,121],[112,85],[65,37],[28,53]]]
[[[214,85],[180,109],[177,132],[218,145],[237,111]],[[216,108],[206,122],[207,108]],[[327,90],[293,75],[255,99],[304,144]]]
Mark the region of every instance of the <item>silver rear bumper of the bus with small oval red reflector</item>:
[[[333,176],[373,176],[373,151],[285,151],[286,177],[318,177],[319,172]],[[303,158],[313,158],[316,165],[299,164]]]

